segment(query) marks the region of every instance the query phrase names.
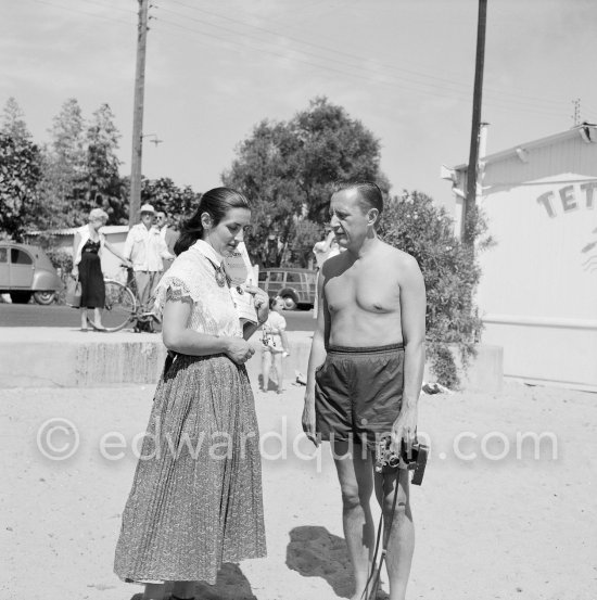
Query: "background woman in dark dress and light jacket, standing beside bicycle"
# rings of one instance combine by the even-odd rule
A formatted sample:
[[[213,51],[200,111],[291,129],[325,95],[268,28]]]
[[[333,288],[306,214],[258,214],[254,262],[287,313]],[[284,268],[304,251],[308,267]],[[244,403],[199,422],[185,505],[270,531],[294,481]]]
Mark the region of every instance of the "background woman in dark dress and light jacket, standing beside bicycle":
[[[88,330],[87,310],[92,308],[94,314],[93,327],[105,331],[102,325],[102,308],[105,304],[105,284],[103,281],[101,253],[105,247],[114,256],[128,263],[120,253],[105,241],[100,229],[107,221],[107,213],[101,208],[93,208],[89,213],[89,222],[75,231],[73,243],[73,277],[78,278],[81,286],[80,298],[80,330]]]

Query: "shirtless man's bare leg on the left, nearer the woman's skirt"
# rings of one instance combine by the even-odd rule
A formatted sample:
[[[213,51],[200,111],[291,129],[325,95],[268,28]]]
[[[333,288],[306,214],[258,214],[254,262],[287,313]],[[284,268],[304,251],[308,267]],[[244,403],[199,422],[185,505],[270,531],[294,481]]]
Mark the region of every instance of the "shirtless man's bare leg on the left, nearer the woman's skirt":
[[[360,600],[371,571],[374,550],[376,533],[369,506],[373,490],[371,459],[367,451],[363,452],[359,444],[333,441],[332,450],[342,490],[344,538],[356,582],[351,600]]]

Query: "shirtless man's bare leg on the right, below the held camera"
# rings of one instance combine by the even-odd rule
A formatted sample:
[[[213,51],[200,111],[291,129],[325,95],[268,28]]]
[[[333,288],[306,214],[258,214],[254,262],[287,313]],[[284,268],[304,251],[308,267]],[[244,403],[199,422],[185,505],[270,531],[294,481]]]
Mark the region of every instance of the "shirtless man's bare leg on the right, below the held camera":
[[[398,496],[392,513],[396,485]],[[383,511],[383,533],[384,539],[388,539],[385,560],[390,579],[390,600],[404,600],[415,550],[415,525],[410,512],[408,485],[406,469],[376,473],[376,496]]]

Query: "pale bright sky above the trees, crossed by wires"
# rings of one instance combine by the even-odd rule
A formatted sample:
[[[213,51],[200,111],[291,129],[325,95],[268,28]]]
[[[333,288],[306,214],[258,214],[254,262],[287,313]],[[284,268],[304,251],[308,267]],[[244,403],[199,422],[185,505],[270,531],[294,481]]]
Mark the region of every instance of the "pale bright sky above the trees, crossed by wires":
[[[382,143],[398,193],[452,204],[440,166],[468,161],[478,0],[155,0],[148,34],[143,174],[204,191],[263,118],[327,95]],[[0,104],[36,141],[68,98],[107,102],[130,168],[136,0],[0,0]],[[597,123],[597,3],[488,0],[487,152]]]

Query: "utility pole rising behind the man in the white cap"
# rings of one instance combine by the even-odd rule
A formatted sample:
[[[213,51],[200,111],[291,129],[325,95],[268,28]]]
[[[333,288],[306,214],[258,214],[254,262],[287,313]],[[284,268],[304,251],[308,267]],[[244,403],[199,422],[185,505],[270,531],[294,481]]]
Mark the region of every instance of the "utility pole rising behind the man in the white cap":
[[[137,67],[135,69],[135,101],[132,106],[132,157],[130,161],[130,197],[128,225],[139,221],[141,209],[141,157],[143,153],[143,98],[145,93],[145,47],[148,40],[149,0],[139,1],[137,31]]]

